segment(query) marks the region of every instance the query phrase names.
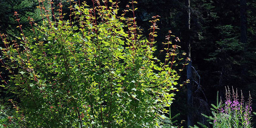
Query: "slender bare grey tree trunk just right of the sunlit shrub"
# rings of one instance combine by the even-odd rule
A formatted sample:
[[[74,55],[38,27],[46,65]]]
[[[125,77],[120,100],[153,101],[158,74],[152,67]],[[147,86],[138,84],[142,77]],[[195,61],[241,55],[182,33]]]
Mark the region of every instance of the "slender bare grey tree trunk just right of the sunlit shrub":
[[[187,7],[187,31],[188,34],[186,35],[186,45],[187,45],[187,54],[188,57],[191,59],[191,41],[190,41],[190,35],[191,35],[191,30],[190,30],[190,0],[186,0],[185,5]],[[187,83],[187,108],[188,108],[188,113],[187,113],[187,126],[192,126],[193,125],[193,80],[192,80],[192,61],[190,60],[187,65],[187,79],[190,80],[190,83]]]

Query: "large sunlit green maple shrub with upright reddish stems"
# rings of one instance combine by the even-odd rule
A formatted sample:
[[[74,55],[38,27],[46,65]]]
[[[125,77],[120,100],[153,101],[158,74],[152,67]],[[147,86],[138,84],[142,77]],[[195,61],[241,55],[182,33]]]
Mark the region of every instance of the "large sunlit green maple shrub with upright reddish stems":
[[[134,14],[130,2],[127,10]],[[51,3],[50,4],[51,7]],[[1,62],[9,71],[9,80],[1,85],[15,97],[5,100],[13,107],[1,111],[5,127],[159,127],[178,90],[179,38],[166,36],[160,53],[153,55],[158,16],[152,17],[149,39],[140,35],[135,17],[118,16],[118,3],[101,6],[93,1],[70,7],[73,21],[63,20],[62,5],[51,17],[41,3],[43,24],[29,18],[34,37],[22,32],[19,40],[8,41],[1,34]],[[43,10],[44,9],[44,10]],[[46,10],[45,10],[46,9]],[[17,22],[19,15],[15,12]],[[52,20],[54,19],[54,20]],[[18,26],[22,31],[22,26]],[[176,59],[175,59],[176,58]],[[183,62],[183,60],[181,61]],[[180,69],[180,70],[178,70]],[[2,77],[2,76],[1,76]],[[187,83],[185,81],[184,83]],[[183,83],[183,84],[184,84]],[[182,85],[179,85],[179,87]],[[14,109],[12,111],[12,109]]]

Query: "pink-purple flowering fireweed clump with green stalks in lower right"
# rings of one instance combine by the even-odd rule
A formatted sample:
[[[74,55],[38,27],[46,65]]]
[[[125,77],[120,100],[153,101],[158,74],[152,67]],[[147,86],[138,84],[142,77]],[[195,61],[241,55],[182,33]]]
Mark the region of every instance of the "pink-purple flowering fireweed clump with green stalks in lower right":
[[[213,106],[213,108],[211,108],[213,116],[206,116],[204,114],[202,115],[212,120],[210,124],[213,125],[213,128],[252,128],[252,108],[250,94],[248,102],[245,102],[242,91],[241,97],[239,99],[237,89],[234,91],[232,88],[231,94],[230,89],[226,88],[225,103],[222,104],[222,101],[218,102],[217,93],[217,105],[211,105]],[[200,125],[207,128],[203,124]],[[198,126],[191,128],[198,128]]]

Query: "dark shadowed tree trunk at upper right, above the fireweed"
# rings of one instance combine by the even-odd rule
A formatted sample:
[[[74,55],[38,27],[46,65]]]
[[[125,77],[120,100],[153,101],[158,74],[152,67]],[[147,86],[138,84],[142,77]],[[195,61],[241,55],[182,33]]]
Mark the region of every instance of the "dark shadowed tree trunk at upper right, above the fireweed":
[[[246,0],[240,0],[241,42],[247,43]]]

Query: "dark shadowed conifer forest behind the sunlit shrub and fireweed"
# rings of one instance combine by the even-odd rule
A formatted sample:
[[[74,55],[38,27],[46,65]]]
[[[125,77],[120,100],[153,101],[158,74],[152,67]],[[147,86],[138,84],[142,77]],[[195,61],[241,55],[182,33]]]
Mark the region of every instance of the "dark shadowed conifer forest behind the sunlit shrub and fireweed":
[[[55,7],[62,2],[65,7],[63,13],[69,13],[69,2],[53,2]],[[91,4],[88,0],[88,5]],[[127,9],[126,5],[129,5],[129,0],[121,0],[120,11]],[[40,24],[42,18],[37,6],[37,0],[0,0],[1,34],[5,33],[8,40],[19,35],[14,11],[20,14],[23,27],[27,27],[24,30],[30,28],[28,16]],[[224,100],[227,86],[242,90],[245,99],[248,99],[250,91],[253,110],[256,110],[256,1],[138,0],[136,8],[136,22],[145,35],[149,34],[151,17],[160,16],[157,22],[160,29],[155,39],[158,51],[171,30],[180,38],[184,52],[190,53],[192,64],[187,68],[188,72],[182,72],[180,81],[186,80],[190,72],[191,85],[176,93],[176,100],[171,105],[172,115],[181,113],[177,119],[190,120],[190,124],[197,121],[207,124],[201,113],[210,115],[210,104],[216,103],[217,91]],[[129,15],[133,14],[126,16]],[[4,47],[2,42],[0,47]],[[0,72],[4,79],[8,79],[7,71],[1,68]],[[11,97],[3,91],[1,88],[1,97]]]

